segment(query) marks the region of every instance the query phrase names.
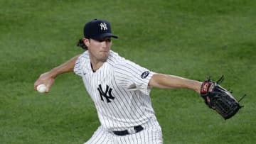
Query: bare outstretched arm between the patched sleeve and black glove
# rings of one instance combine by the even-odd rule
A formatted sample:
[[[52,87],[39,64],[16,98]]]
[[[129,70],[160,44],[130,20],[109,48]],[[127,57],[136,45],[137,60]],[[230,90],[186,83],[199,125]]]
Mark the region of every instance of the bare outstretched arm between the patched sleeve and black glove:
[[[200,92],[201,84],[201,82],[196,80],[167,74],[154,74],[149,82],[149,86],[151,87],[158,87],[161,89],[193,89],[198,93]]]

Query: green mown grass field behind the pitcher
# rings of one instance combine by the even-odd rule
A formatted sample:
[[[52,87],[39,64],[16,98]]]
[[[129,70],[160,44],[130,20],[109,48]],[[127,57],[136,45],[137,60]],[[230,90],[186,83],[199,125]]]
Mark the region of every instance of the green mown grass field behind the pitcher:
[[[99,126],[80,77],[63,74],[49,94],[38,76],[83,52],[85,22],[112,23],[112,50],[154,72],[243,94],[245,108],[225,121],[186,89],[153,89],[164,143],[255,143],[256,1],[0,0],[0,143],[84,143]]]

